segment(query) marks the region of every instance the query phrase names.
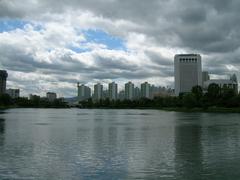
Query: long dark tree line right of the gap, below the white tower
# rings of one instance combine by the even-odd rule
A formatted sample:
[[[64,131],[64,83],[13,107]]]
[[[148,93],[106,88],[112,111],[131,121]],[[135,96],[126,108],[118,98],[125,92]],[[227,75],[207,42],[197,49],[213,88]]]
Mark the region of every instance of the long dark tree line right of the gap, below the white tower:
[[[178,97],[141,98],[139,100],[109,99],[93,101],[88,99],[79,102],[79,108],[106,109],[162,109],[181,112],[235,112],[240,113],[240,94],[232,88],[220,88],[217,84],[209,85],[206,92],[201,86],[195,86],[190,93]]]

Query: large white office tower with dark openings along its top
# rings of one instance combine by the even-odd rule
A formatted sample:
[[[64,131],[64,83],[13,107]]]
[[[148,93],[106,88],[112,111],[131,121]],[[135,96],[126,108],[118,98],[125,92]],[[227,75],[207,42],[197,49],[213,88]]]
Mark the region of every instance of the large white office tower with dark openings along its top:
[[[199,54],[178,54],[174,57],[175,95],[191,92],[202,86],[202,62]]]

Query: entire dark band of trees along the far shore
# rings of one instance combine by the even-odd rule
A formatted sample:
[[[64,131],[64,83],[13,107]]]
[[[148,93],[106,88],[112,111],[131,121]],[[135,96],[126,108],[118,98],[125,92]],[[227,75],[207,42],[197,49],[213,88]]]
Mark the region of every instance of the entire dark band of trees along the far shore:
[[[62,99],[48,101],[46,98],[34,97],[11,99],[10,96],[0,95],[0,110],[8,108],[71,108],[82,109],[155,109],[175,112],[216,112],[240,113],[240,94],[232,88],[222,87],[217,84],[209,85],[206,92],[201,86],[195,86],[190,93],[177,96],[155,97],[154,99],[141,98],[138,100],[100,99],[91,98],[79,102],[78,105],[69,106]]]

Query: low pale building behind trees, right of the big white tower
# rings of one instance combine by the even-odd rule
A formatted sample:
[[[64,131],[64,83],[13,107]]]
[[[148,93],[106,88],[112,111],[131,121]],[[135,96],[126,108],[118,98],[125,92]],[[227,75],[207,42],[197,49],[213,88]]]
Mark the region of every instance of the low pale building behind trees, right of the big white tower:
[[[228,87],[232,88],[236,94],[238,94],[238,81],[237,76],[233,74],[230,79],[211,79],[204,82],[203,88],[207,90],[210,84],[217,84],[220,88]]]

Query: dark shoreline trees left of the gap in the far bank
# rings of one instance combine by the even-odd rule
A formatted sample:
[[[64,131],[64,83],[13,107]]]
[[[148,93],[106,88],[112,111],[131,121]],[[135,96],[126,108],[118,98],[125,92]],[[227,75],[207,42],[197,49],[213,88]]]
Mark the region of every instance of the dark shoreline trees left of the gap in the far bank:
[[[8,94],[0,95],[0,109],[7,108],[68,108],[66,102],[62,99],[49,101],[47,98],[40,98],[38,96],[32,99],[16,98],[12,99]]]

